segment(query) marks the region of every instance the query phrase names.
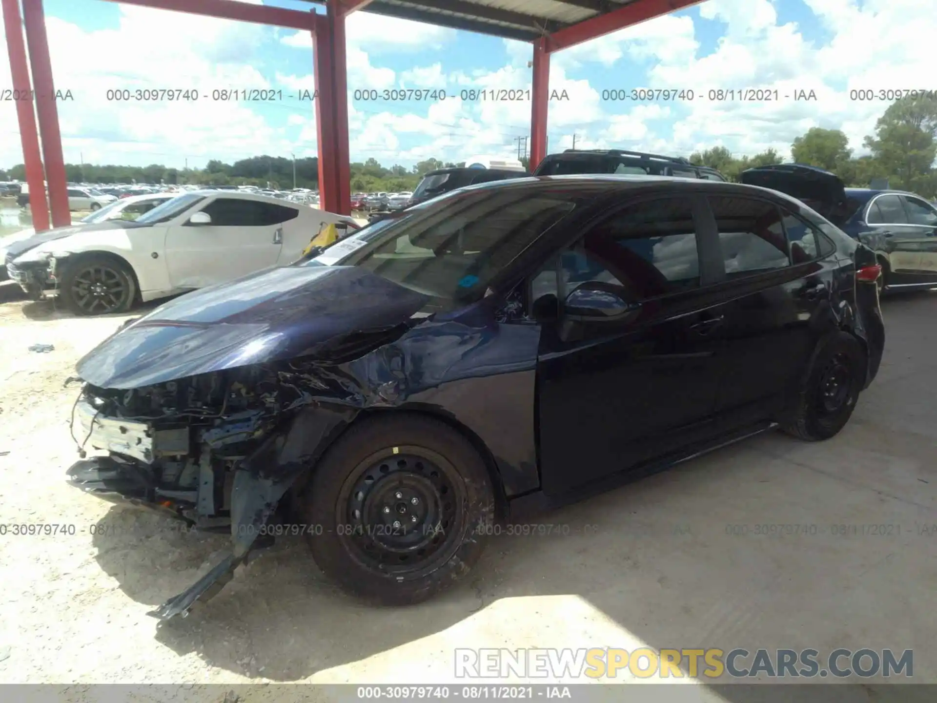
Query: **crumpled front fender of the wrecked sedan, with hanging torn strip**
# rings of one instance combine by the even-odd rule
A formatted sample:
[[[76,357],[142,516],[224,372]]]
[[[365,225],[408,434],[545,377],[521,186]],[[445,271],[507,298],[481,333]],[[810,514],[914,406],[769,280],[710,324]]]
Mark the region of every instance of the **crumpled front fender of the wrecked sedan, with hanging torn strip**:
[[[533,413],[540,327],[499,324],[494,313],[478,304],[416,324],[367,352],[361,339],[344,337],[328,348],[329,362],[293,362],[301,375],[308,375],[310,404],[235,472],[231,554],[150,615],[160,620],[185,616],[197,600],[210,598],[231,581],[278,501],[361,411],[412,408],[445,414],[483,441],[509,491],[538,487]],[[498,411],[457,401],[496,395]],[[515,420],[513,426],[504,426],[505,416]]]

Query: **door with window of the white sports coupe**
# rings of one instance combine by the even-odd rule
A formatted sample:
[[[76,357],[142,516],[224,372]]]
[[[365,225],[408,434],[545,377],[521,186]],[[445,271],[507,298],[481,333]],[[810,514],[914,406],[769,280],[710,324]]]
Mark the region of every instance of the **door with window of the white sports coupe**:
[[[283,225],[270,224],[266,202],[220,197],[200,212],[208,224],[185,224],[166,235],[166,264],[174,289],[202,288],[274,266]]]

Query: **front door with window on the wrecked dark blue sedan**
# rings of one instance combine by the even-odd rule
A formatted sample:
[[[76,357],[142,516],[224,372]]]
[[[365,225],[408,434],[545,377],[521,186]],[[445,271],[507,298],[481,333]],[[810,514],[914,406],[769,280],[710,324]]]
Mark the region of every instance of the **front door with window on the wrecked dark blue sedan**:
[[[531,284],[533,309],[599,283],[634,314],[581,322],[558,306],[543,321],[538,411],[543,491],[635,468],[698,439],[716,398],[719,306],[701,299],[694,204],[639,202],[618,210],[558,255]]]

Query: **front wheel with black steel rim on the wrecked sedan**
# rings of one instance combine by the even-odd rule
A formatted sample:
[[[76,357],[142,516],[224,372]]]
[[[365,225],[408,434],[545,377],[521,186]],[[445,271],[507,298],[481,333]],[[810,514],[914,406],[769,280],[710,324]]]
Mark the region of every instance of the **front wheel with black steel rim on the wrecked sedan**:
[[[305,493],[320,569],[382,605],[420,603],[468,574],[493,531],[484,461],[452,427],[409,413],[352,426]]]

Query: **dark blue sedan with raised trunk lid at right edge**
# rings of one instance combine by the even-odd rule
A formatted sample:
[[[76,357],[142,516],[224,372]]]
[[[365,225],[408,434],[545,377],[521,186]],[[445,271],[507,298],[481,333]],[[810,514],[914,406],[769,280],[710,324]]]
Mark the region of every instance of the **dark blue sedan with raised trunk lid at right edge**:
[[[937,207],[919,195],[847,188],[835,173],[801,164],[750,169],[741,181],[793,195],[874,249],[881,290],[937,286]]]

